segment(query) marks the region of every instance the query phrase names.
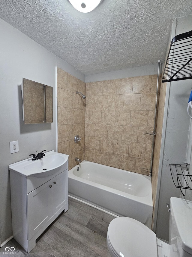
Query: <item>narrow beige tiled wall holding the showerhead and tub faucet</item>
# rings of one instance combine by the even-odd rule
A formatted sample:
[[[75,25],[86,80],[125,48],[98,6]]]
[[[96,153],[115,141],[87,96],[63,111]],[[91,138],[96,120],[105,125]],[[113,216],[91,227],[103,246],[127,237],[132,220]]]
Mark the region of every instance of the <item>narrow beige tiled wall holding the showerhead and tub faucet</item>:
[[[69,170],[78,163],[75,157],[84,160],[85,99],[76,91],[85,94],[85,83],[57,68],[58,152],[69,155]]]

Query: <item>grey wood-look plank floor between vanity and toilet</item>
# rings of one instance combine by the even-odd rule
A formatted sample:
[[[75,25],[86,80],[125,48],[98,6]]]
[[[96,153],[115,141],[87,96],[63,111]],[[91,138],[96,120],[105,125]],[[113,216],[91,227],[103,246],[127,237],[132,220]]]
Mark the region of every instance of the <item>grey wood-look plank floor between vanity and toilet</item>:
[[[110,257],[106,237],[113,219],[109,214],[69,198],[68,211],[49,226],[30,253],[11,239],[0,248],[0,256],[7,256],[4,252],[8,246],[15,248],[15,257]]]

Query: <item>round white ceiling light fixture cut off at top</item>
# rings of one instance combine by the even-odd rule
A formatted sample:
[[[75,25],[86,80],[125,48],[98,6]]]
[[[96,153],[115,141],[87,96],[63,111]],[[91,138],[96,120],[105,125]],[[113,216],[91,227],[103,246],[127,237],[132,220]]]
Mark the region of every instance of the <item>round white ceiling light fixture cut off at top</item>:
[[[102,0],[69,0],[73,7],[80,12],[93,11]]]

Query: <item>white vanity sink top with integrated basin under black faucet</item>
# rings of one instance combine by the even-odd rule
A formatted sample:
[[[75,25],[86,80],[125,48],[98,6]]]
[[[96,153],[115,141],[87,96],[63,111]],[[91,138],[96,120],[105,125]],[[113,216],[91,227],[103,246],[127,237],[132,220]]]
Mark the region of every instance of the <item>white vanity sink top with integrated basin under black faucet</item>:
[[[15,171],[25,177],[45,177],[56,173],[68,160],[69,155],[50,151],[39,160],[32,158],[9,165],[9,170]]]

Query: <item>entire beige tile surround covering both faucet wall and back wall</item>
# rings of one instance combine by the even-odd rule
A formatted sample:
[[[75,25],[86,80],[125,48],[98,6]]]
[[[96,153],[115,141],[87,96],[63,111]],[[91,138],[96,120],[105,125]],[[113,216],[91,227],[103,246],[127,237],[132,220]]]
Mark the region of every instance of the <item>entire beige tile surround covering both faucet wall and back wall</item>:
[[[85,90],[84,82],[57,71],[58,152],[70,155],[69,169],[75,157],[137,173],[150,169],[152,136],[143,131],[153,131],[157,75],[86,83]]]

